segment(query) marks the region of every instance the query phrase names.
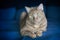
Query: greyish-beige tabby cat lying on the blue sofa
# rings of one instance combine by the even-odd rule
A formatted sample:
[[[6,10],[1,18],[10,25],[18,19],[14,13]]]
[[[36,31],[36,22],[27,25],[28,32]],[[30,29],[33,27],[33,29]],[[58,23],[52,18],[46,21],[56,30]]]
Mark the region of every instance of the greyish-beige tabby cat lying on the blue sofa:
[[[20,22],[20,33],[22,36],[31,38],[41,37],[47,30],[47,19],[43,11],[43,4],[37,7],[25,6],[27,13],[22,12]]]

